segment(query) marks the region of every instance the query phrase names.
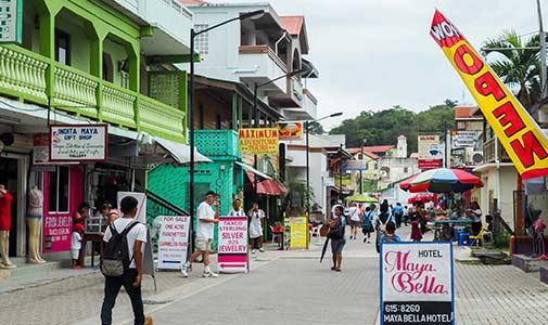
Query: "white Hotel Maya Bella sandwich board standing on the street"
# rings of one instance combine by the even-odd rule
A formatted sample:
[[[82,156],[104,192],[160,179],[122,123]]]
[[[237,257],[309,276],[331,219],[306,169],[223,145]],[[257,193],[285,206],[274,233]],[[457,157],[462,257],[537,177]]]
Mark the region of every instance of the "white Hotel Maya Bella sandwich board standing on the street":
[[[451,243],[381,245],[381,325],[455,324]]]

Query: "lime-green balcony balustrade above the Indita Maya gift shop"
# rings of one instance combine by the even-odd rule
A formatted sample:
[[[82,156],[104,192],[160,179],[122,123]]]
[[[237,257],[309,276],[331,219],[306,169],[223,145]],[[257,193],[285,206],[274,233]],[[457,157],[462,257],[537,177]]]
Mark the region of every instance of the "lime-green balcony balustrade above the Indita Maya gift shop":
[[[179,86],[169,91],[186,101],[186,82]],[[186,102],[167,105],[17,46],[0,47],[0,93],[178,142],[187,139],[180,108]]]

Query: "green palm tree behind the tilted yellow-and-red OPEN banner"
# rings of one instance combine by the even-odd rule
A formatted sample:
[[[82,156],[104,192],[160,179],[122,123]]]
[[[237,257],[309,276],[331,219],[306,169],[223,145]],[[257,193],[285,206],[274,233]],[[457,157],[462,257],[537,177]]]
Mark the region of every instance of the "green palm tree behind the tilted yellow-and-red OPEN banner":
[[[499,37],[483,43],[486,57],[501,81],[515,92],[525,108],[540,100],[538,34],[522,40],[515,30],[506,30]],[[525,48],[525,49],[524,49]]]

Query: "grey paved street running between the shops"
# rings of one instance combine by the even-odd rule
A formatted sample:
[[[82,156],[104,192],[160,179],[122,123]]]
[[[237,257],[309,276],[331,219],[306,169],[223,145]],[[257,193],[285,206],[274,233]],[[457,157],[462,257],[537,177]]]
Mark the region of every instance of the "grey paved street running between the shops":
[[[405,231],[402,232],[405,237]],[[309,251],[270,250],[248,274],[191,278],[157,274],[158,292],[146,277],[145,311],[155,324],[375,324],[379,308],[378,259],[373,244],[352,240],[343,272],[318,262],[320,246]],[[511,265],[456,263],[457,324],[543,324],[548,287]],[[0,294],[2,324],[98,324],[103,278],[98,273]],[[0,283],[1,285],[1,283]],[[334,311],[336,310],[336,311]],[[115,324],[131,324],[120,292]]]

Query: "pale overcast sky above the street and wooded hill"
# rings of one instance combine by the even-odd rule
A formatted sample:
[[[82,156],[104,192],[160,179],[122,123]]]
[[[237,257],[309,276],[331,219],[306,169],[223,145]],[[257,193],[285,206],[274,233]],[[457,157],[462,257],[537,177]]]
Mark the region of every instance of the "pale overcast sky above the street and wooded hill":
[[[474,104],[457,73],[430,36],[437,8],[472,46],[506,29],[538,30],[536,0],[211,0],[270,2],[279,15],[304,15],[310,51],[320,78],[307,88],[318,99],[326,129],[361,110],[400,105],[428,109],[446,99]],[[548,15],[548,0],[540,0]],[[546,17],[544,20],[546,22]],[[545,27],[546,29],[547,27]],[[524,36],[527,37],[527,36]]]

